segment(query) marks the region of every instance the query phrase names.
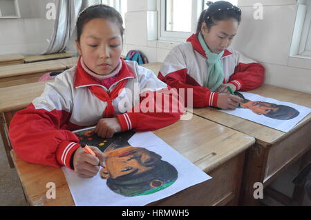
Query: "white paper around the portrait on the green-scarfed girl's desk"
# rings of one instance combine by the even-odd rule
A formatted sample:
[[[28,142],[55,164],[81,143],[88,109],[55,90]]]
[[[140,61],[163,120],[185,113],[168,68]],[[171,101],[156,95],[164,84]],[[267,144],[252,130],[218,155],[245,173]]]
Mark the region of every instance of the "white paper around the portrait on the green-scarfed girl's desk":
[[[288,107],[294,108],[294,110],[288,108],[290,111],[284,112],[282,114],[288,114],[288,115],[292,114],[293,115],[292,117],[294,117],[296,111],[298,111],[296,113],[297,114],[299,113],[299,114],[292,119],[284,119],[284,118],[275,119],[272,117],[267,117],[265,116],[265,114],[261,114],[261,115],[256,114],[255,112],[253,112],[253,110],[254,111],[258,111],[258,110],[252,107],[250,108],[252,108],[253,110],[251,110],[250,108],[236,108],[236,110],[220,110],[220,111],[226,112],[227,114],[232,114],[237,117],[241,117],[243,119],[247,119],[249,121],[254,121],[264,126],[274,128],[276,130],[281,130],[283,132],[288,132],[289,130],[294,128],[294,126],[296,126],[296,124],[299,123],[299,121],[301,121],[304,117],[306,117],[311,112],[310,108],[299,106],[294,103],[278,101],[276,99],[266,98],[258,94],[252,94],[248,92],[239,92],[239,93],[243,94],[243,97],[245,97],[245,99],[248,99],[249,101],[255,101],[255,102],[261,101],[261,102],[267,102],[267,103],[274,103],[276,105],[282,105],[282,106],[288,106]],[[256,103],[254,103],[254,105],[255,104]],[[281,117],[284,117],[284,116],[281,116]]]

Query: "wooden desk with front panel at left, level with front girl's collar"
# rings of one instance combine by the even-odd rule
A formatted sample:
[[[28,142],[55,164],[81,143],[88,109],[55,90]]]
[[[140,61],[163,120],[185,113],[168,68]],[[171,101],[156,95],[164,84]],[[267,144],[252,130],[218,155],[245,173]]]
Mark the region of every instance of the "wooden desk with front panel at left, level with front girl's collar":
[[[34,83],[46,72],[63,71],[66,69],[57,61],[24,63],[15,66],[0,67],[0,88]]]

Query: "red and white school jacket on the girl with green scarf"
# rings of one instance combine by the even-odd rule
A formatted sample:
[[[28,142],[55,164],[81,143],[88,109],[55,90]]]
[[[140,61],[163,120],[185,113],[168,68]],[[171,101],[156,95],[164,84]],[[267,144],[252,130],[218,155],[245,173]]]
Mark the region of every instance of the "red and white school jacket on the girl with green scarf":
[[[212,92],[206,86],[207,59],[198,34],[193,34],[186,43],[181,43],[169,52],[158,78],[172,88],[193,89],[194,108],[216,107],[219,93]],[[263,83],[265,68],[232,47],[224,51],[220,61],[223,66],[223,83],[233,83],[241,91],[253,90]],[[187,98],[187,90],[185,92]]]

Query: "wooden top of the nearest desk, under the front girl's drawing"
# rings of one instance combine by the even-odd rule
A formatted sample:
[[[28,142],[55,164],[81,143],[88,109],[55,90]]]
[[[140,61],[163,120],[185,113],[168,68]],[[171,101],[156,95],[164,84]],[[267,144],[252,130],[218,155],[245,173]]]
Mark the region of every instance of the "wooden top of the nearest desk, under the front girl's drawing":
[[[196,115],[153,133],[207,173],[255,142],[252,137]],[[28,163],[19,159],[14,150],[11,155],[30,205],[74,206],[62,169]],[[57,199],[46,199],[49,182],[56,184]]]

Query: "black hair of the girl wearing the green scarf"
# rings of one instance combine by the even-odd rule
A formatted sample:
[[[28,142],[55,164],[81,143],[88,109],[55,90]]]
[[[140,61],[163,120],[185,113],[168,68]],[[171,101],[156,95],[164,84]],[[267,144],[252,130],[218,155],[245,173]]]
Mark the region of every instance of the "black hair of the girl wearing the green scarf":
[[[196,32],[201,31],[203,22],[206,23],[207,30],[212,26],[215,26],[218,21],[225,21],[228,19],[236,19],[238,24],[240,24],[241,9],[233,6],[232,3],[229,3],[228,1],[216,1],[212,3],[211,1],[208,1],[207,6],[209,6],[209,8],[203,10],[200,14]]]

